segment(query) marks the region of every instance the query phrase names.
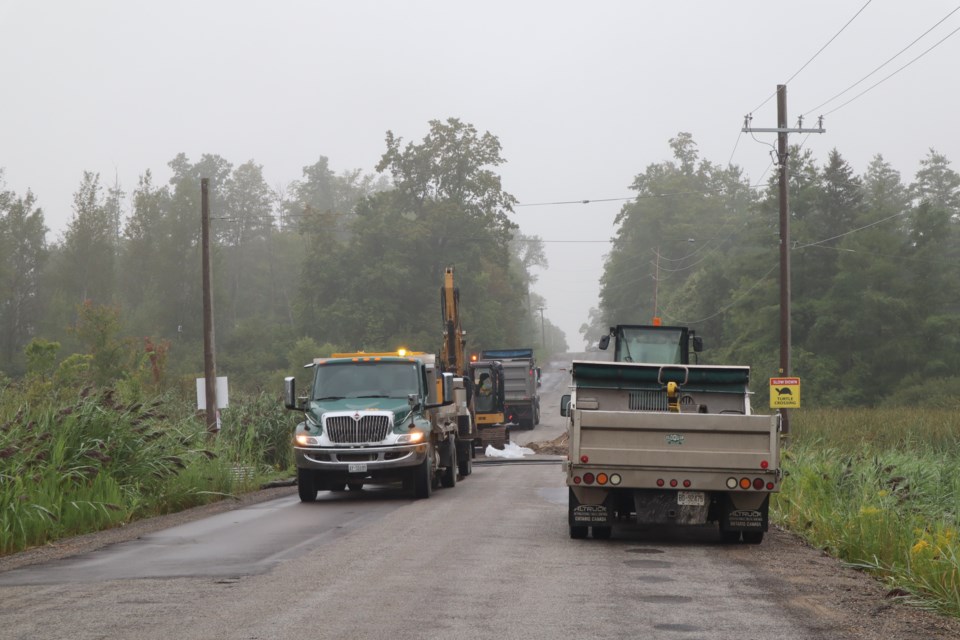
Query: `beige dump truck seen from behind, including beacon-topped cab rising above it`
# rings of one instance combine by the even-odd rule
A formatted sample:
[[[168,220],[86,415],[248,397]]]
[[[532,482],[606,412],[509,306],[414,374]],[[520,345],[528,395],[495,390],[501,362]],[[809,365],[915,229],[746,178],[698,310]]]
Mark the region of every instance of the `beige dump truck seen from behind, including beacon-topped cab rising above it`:
[[[677,329],[618,325],[614,362],[573,361],[560,402],[571,538],[715,522],[726,542],[763,540],[781,481],[779,417],[752,413],[749,367],[689,364],[702,342]]]

